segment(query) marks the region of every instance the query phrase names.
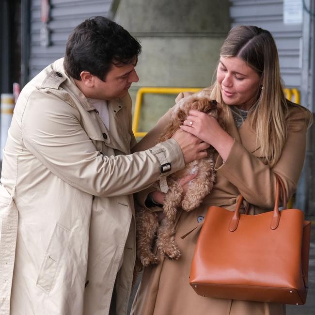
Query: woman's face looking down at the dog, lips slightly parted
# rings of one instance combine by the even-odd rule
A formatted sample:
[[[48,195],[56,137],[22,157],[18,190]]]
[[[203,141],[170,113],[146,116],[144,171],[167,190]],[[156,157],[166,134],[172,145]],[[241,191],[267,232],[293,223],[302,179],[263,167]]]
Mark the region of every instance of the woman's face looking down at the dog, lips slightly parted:
[[[217,80],[225,104],[249,110],[260,89],[260,76],[238,57],[221,57]]]

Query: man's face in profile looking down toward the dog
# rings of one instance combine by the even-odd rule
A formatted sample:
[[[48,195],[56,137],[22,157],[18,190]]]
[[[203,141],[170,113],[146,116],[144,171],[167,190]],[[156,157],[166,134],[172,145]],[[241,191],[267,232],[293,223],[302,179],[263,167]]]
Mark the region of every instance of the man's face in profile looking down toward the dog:
[[[139,77],[135,70],[137,58],[129,64],[113,64],[104,81],[94,77],[93,97],[96,99],[111,100],[124,97],[133,82],[138,82]]]

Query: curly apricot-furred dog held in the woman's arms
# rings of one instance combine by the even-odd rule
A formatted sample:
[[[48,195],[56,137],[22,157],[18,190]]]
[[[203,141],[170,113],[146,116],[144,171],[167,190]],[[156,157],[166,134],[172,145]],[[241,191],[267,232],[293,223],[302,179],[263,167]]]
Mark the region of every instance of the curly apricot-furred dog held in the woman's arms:
[[[189,110],[200,110],[218,119],[223,126],[223,114],[221,106],[215,100],[210,100],[209,89],[204,89],[196,94],[182,98],[172,113],[170,123],[160,135],[158,142],[170,139],[173,133],[181,126],[189,115]],[[187,164],[181,171],[168,176],[169,190],[165,195],[163,212],[165,218],[158,223],[157,214],[142,207],[136,207],[136,238],[137,256],[142,266],[157,264],[159,258],[152,252],[152,243],[157,233],[157,248],[161,254],[170,259],[178,259],[181,252],[175,243],[175,219],[177,208],[182,207],[191,211],[198,207],[205,196],[210,193],[215,182],[214,148],[207,149],[207,157],[194,160]],[[183,188],[179,185],[179,179],[191,173],[197,176],[189,182],[189,189],[183,198]],[[139,263],[139,262],[138,262]]]

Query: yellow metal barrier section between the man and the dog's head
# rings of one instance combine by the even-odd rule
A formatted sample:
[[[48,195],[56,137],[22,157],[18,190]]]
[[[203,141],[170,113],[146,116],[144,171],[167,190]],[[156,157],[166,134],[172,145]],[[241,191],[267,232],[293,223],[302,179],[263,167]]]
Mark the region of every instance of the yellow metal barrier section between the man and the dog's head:
[[[146,132],[138,132],[139,126],[139,117],[140,117],[140,110],[142,105],[142,98],[143,94],[150,93],[150,94],[179,94],[181,92],[198,92],[201,88],[150,88],[150,87],[143,87],[140,88],[137,92],[136,96],[136,103],[135,103],[135,110],[133,115],[132,121],[132,131],[135,137],[144,137],[147,133]]]

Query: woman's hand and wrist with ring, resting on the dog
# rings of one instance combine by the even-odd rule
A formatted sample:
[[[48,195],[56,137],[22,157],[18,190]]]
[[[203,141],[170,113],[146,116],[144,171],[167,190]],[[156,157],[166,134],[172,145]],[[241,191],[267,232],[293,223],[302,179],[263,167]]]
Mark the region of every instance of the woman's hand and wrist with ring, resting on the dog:
[[[221,128],[216,118],[198,110],[189,110],[189,116],[180,127],[212,145],[223,160],[229,156],[234,139]]]

